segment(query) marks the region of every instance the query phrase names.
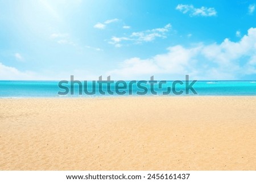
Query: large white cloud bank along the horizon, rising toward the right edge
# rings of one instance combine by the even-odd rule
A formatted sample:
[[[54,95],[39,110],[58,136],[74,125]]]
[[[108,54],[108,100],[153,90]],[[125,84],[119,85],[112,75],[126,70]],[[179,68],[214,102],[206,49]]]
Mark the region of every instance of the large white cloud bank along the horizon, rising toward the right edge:
[[[240,41],[225,39],[221,44],[197,44],[190,48],[171,46],[165,54],[123,61],[107,74],[112,79],[240,79],[256,74],[256,28],[250,28]]]

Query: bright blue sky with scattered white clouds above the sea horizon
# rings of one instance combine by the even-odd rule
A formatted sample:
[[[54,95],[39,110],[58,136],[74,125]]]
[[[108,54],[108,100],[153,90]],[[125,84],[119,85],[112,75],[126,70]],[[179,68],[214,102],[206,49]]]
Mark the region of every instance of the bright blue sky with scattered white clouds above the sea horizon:
[[[256,79],[255,1],[0,0],[0,79]]]

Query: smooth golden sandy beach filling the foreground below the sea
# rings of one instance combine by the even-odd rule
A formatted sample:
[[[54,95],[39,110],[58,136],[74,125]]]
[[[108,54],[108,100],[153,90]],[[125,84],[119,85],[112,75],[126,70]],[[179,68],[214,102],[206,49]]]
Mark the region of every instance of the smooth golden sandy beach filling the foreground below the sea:
[[[256,170],[256,97],[0,99],[0,170]]]

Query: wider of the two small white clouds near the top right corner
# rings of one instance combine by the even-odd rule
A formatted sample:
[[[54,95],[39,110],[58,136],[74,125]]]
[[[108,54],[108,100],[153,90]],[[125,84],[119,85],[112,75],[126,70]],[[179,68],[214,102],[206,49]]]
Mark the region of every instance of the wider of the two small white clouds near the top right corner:
[[[189,13],[189,16],[216,16],[217,11],[213,7],[195,8],[193,5],[177,5],[176,10],[183,14]]]

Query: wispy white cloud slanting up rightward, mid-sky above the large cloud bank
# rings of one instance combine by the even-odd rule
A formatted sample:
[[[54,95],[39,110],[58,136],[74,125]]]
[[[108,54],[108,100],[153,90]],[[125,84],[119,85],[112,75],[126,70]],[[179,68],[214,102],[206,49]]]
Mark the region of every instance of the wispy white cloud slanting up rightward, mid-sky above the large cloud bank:
[[[154,29],[148,29],[146,31],[141,32],[133,32],[129,36],[123,36],[123,37],[116,37],[113,36],[111,38],[111,41],[109,41],[109,44],[113,44],[116,47],[121,47],[124,41],[130,41],[133,44],[139,44],[143,42],[150,42],[155,40],[156,38],[166,38],[166,32],[168,32],[171,28],[171,24],[167,24],[163,28],[154,28]]]

